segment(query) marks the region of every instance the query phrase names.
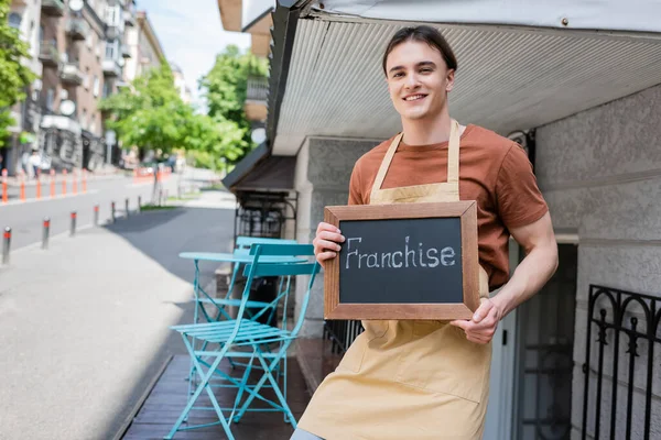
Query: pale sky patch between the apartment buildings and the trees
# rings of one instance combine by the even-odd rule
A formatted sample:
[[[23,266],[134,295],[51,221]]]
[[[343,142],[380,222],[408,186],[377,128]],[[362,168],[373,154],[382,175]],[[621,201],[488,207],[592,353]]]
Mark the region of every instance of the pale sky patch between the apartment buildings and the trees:
[[[223,30],[217,0],[137,0],[137,8],[147,11],[165,56],[184,72],[196,103],[202,103],[197,79],[214,66],[216,54],[229,44],[250,47],[249,34]]]

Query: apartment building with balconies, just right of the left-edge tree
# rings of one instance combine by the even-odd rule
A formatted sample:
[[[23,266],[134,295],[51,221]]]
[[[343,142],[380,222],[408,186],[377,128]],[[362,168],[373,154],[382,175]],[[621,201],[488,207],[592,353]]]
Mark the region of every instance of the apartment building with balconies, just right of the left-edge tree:
[[[43,0],[39,28],[42,68],[39,150],[43,167],[96,169],[111,162],[98,103],[122,80],[126,26],[134,6],[124,0]]]

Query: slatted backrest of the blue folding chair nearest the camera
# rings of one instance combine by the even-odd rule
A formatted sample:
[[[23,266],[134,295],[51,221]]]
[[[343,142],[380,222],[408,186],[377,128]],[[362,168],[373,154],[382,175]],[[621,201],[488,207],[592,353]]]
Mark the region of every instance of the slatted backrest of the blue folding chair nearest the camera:
[[[254,256],[254,261],[248,267],[248,278],[252,280],[254,277],[260,276],[296,276],[296,275],[308,275],[310,282],[307,283],[307,290],[303,297],[303,304],[301,305],[299,320],[296,326],[292,330],[292,334],[295,337],[299,334],[303,321],[305,319],[305,312],[307,311],[307,305],[310,304],[310,293],[314,284],[316,274],[321,270],[321,265],[314,260],[314,246],[312,244],[256,244],[250,249],[250,254]],[[259,263],[261,256],[291,256],[291,257],[307,257],[305,263]],[[312,262],[310,262],[312,261]],[[247,293],[245,293],[247,294]]]

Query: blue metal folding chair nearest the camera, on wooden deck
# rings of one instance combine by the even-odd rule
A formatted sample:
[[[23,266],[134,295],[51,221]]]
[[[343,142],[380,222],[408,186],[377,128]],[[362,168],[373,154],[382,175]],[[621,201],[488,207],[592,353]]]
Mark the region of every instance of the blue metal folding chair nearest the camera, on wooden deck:
[[[221,425],[227,437],[232,440],[234,436],[231,433],[230,424],[239,421],[246,411],[249,410],[283,413],[285,421],[290,422],[294,428],[296,427],[296,421],[286,403],[285,394],[280,389],[279,380],[273,373],[278,371],[280,362],[283,359],[286,359],[286,351],[297,338],[301,327],[303,326],[305,311],[307,310],[310,301],[310,292],[314,284],[315,275],[319,271],[319,265],[316,262],[260,263],[260,257],[269,255],[306,256],[308,260],[312,260],[314,257],[314,249],[311,244],[253,244],[250,253],[253,256],[253,260],[252,263],[246,267],[247,283],[241,295],[237,319],[172,327],[172,329],[182,334],[184,344],[191,355],[194,370],[198,375],[199,381],[197,388],[188,399],[187,405],[165,439],[173,439],[175,433],[180,430]],[[310,280],[307,290],[303,297],[299,319],[291,331],[286,328],[272,327],[257,322],[246,316],[250,286],[256,277],[290,277],[301,275],[310,276]],[[218,349],[214,351],[208,349],[196,350],[196,341],[202,341],[205,345],[207,343],[218,344]],[[272,352],[268,351],[268,346],[271,344],[277,344],[278,349]],[[248,360],[248,366],[243,375],[240,378],[236,378],[220,371],[218,366],[224,359]],[[259,369],[252,369],[254,361],[259,362]],[[261,376],[254,385],[249,385],[248,378],[252,371],[259,372]],[[214,376],[228,381],[231,387],[237,388],[237,395],[231,408],[221,408],[218,404],[218,400],[214,395],[214,387],[210,384],[212,377]],[[262,393],[260,393],[266,388],[267,383],[270,385],[269,388],[275,394],[277,402],[264,397]],[[284,375],[282,386],[284,393],[286,393],[286,375]],[[181,428],[203,392],[207,393],[213,408],[218,416],[218,421]],[[245,395],[247,398],[242,402]],[[270,408],[250,408],[254,399],[267,403]],[[229,413],[229,415],[226,416],[225,413]]]

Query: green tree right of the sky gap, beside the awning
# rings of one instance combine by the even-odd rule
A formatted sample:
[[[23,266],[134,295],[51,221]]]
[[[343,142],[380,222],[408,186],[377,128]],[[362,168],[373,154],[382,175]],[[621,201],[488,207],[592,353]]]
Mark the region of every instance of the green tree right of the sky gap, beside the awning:
[[[250,122],[246,119],[243,102],[248,77],[266,77],[267,73],[266,59],[250,53],[241,54],[237,46],[229,45],[216,56],[214,67],[199,81],[208,116],[224,133],[223,146],[216,146],[216,151],[229,164],[239,162],[256,146],[250,139]]]

